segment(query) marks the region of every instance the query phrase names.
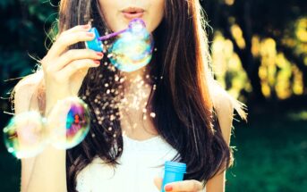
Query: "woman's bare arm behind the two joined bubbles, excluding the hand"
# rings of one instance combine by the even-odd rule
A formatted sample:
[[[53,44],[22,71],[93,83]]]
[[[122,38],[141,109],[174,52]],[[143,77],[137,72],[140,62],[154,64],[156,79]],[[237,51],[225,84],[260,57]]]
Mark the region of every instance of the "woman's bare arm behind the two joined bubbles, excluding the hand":
[[[15,114],[37,110],[31,97],[37,85],[23,79],[15,88]],[[21,192],[66,191],[65,151],[47,147],[43,153],[21,159]]]

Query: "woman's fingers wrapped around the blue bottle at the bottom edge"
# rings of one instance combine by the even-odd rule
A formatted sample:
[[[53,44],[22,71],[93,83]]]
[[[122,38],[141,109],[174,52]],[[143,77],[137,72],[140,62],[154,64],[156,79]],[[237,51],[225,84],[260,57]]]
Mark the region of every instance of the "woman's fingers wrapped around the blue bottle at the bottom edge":
[[[189,192],[199,192],[202,190],[202,184],[198,180],[183,180],[168,183],[165,186],[166,191],[179,192],[179,191],[189,191]]]

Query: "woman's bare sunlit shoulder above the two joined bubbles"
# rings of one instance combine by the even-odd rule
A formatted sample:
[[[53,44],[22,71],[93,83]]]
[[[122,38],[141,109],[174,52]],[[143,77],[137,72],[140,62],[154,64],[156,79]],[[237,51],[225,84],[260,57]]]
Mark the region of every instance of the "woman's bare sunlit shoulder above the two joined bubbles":
[[[41,73],[36,72],[21,79],[13,89],[13,105],[15,113],[27,112],[31,109],[38,110],[37,99],[33,98],[38,84],[41,81]]]

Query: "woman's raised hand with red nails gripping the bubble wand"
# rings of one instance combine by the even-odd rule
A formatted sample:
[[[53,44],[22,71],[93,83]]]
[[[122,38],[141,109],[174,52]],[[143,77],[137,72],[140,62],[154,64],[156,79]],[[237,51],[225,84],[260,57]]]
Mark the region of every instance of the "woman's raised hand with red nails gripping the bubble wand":
[[[47,112],[57,100],[77,96],[88,70],[99,66],[102,53],[90,49],[68,50],[73,44],[92,40],[94,34],[89,29],[90,25],[81,25],[62,32],[42,59]]]

